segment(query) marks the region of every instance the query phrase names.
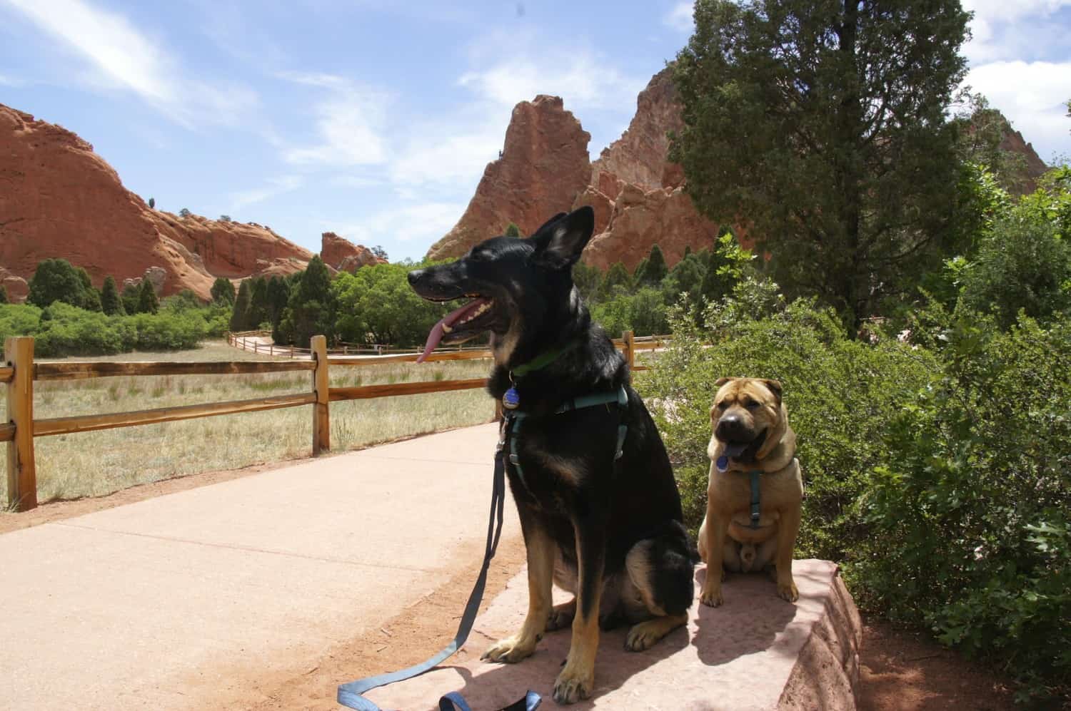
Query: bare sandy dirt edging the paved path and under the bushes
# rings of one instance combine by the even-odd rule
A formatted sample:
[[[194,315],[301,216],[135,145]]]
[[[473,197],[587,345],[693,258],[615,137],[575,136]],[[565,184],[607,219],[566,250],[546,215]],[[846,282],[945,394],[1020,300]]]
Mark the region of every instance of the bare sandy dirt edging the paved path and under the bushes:
[[[293,463],[206,473],[133,486],[100,498],[47,504],[27,513],[0,513],[0,534]],[[341,708],[334,701],[335,686],[340,682],[417,663],[441,649],[453,637],[480,562],[473,559],[469,565],[459,567],[456,573],[429,590],[420,602],[384,621],[379,629],[340,648],[325,650],[320,662],[300,676],[233,680],[237,685],[251,690],[250,697],[225,708],[228,711]],[[488,574],[484,607],[523,565],[523,544],[518,540],[503,541]],[[1013,705],[1007,685],[991,670],[914,632],[897,630],[864,617],[859,708],[864,711],[997,711],[1011,709]]]

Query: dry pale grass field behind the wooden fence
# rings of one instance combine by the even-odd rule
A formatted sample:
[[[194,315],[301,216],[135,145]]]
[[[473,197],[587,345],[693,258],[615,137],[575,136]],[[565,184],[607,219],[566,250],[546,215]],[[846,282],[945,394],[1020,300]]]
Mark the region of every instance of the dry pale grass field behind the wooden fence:
[[[179,353],[126,353],[72,360],[265,360],[224,341]],[[333,387],[481,377],[487,360],[332,367]],[[312,373],[99,377],[34,383],[34,417],[148,409],[308,392]],[[5,388],[0,387],[0,407]],[[331,403],[334,452],[467,424],[494,414],[482,389]],[[134,484],[312,454],[311,406],[34,439],[37,497],[103,496]],[[0,500],[6,500],[0,477]]]

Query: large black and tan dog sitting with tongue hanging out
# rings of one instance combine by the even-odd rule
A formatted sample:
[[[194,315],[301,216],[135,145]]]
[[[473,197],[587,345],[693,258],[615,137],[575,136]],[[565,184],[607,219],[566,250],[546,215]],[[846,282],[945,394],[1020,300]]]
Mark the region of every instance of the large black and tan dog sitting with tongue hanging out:
[[[572,266],[591,237],[594,214],[558,215],[531,237],[494,237],[456,262],[409,274],[427,299],[468,296],[440,321],[425,355],[441,342],[491,331],[495,366],[487,386],[524,413],[516,464],[508,464],[528,557],[528,614],[521,630],[484,653],[519,662],[547,630],[572,625],[572,644],[554,698],[591,694],[600,623],[630,621],[625,646],[644,650],[688,621],[692,562],[669,460],[629,369],[592,323],[573,285]],[[575,398],[627,393],[558,413]],[[616,400],[615,400],[616,402]],[[618,426],[628,427],[615,464]],[[512,443],[511,443],[512,449]],[[552,607],[552,581],[574,599]]]

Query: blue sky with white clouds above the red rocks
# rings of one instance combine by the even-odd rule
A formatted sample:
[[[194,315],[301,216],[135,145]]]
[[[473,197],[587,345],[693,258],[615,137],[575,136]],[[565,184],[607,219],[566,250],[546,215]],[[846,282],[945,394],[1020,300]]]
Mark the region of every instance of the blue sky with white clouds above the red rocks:
[[[1071,155],[1071,0],[967,0],[967,82]],[[0,0],[0,103],[90,141],[157,207],[419,259],[557,94],[592,158],[691,31],[691,4]]]

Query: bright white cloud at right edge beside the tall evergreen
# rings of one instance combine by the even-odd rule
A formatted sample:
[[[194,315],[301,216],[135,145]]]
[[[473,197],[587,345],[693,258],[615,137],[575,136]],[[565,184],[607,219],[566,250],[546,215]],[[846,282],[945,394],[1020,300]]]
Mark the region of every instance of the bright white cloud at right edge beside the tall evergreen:
[[[972,68],[966,83],[1012,122],[1046,163],[1071,146],[1071,61],[992,62]]]

